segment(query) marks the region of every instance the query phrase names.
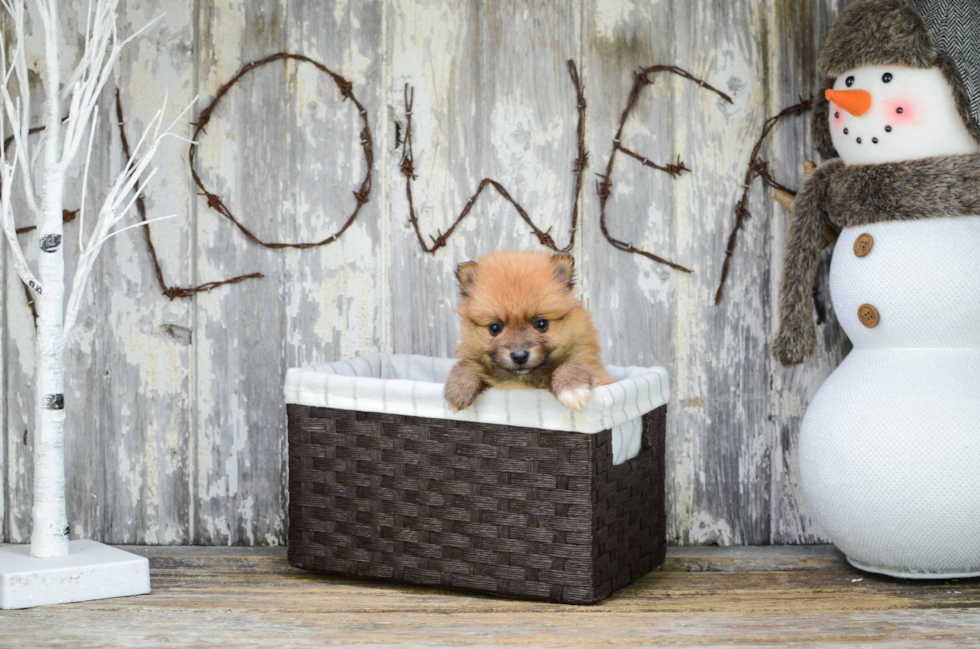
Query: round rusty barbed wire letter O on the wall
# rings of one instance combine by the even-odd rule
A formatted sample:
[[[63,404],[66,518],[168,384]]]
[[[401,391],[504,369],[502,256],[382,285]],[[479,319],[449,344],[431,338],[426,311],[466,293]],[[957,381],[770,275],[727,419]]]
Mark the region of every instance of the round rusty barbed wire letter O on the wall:
[[[340,94],[343,97],[344,101],[350,99],[351,102],[354,104],[354,106],[357,108],[357,111],[361,116],[361,121],[364,124],[364,128],[361,129],[361,148],[364,149],[364,163],[365,163],[366,171],[364,173],[364,179],[361,181],[360,188],[356,192],[354,192],[354,200],[356,201],[354,210],[351,212],[350,216],[347,217],[347,220],[344,222],[344,224],[340,227],[339,230],[334,232],[332,235],[326,237],[325,239],[311,242],[311,243],[278,243],[278,242],[263,241],[255,234],[253,234],[251,230],[245,227],[242,224],[242,222],[235,217],[231,209],[224,203],[224,201],[222,201],[220,196],[208,190],[208,188],[204,186],[204,181],[201,180],[201,176],[197,172],[197,147],[198,144],[200,143],[200,137],[202,134],[205,135],[207,134],[207,131],[205,131],[205,127],[208,125],[208,122],[211,121],[211,115],[214,112],[214,109],[218,106],[218,103],[221,101],[221,99],[226,94],[228,94],[228,91],[231,90],[232,87],[235,84],[237,84],[242,79],[242,77],[247,75],[249,72],[252,72],[257,68],[260,68],[263,65],[268,65],[269,63],[274,63],[275,61],[283,61],[283,60],[293,60],[293,61],[309,63],[314,67],[316,67],[321,72],[323,72],[324,74],[329,75],[333,79],[334,83],[337,85],[338,90],[340,90]],[[188,161],[190,162],[191,176],[193,176],[194,182],[197,183],[197,186],[201,188],[202,194],[207,197],[208,206],[213,208],[215,211],[217,211],[219,214],[224,216],[232,223],[234,223],[238,227],[238,229],[241,230],[242,233],[246,237],[248,237],[248,239],[253,243],[257,243],[260,246],[264,246],[266,248],[272,248],[272,249],[279,249],[279,248],[305,249],[305,248],[316,248],[318,246],[325,246],[327,244],[336,241],[338,238],[340,238],[340,236],[344,232],[347,231],[347,228],[349,228],[357,219],[357,215],[360,213],[361,207],[363,207],[364,204],[368,202],[368,197],[371,194],[371,170],[374,167],[374,140],[372,139],[371,136],[371,128],[368,123],[367,111],[364,109],[364,106],[361,105],[361,102],[357,100],[357,97],[354,96],[353,85],[351,84],[350,81],[340,76],[336,72],[332,71],[324,64],[318,61],[314,61],[313,59],[307,56],[303,56],[302,54],[290,54],[288,52],[278,52],[276,54],[267,56],[264,59],[259,59],[257,61],[252,61],[251,63],[246,63],[244,66],[242,66],[242,68],[238,71],[238,73],[235,74],[235,76],[233,76],[229,81],[227,81],[223,86],[221,86],[221,88],[218,89],[218,92],[217,94],[215,94],[214,99],[212,99],[211,103],[208,104],[200,112],[200,114],[198,114],[197,121],[192,122],[192,124],[195,127],[194,135],[191,138],[192,140],[194,140],[194,142],[190,145],[190,148],[187,152],[187,158]]]

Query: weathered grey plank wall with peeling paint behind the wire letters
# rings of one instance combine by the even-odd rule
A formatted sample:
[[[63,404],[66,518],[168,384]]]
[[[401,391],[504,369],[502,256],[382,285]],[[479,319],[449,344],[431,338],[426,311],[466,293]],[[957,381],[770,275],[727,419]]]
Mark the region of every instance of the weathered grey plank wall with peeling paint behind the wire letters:
[[[297,52],[352,80],[374,134],[374,186],[336,244],[269,250],[198,195],[183,145],[165,149],[147,204],[151,217],[180,215],[153,227],[168,281],[191,285],[254,271],[265,278],[169,301],[140,234],[108,244],[68,360],[73,535],[283,543],[286,369],[379,350],[451,355],[455,265],[497,247],[539,245],[488,189],[444,249],[421,252],[396,149],[405,84],[415,88],[413,190],[423,234],[445,230],[491,177],[565,245],[577,121],[565,62],[574,59],[588,101],[590,153],[573,249],[580,291],[608,362],[662,364],[671,372],[672,539],[822,540],[801,499],[797,432],[846,341],[831,314],[816,361],[787,371],[769,357],[788,215],[761,183],[725,300],[715,307],[713,296],[762,122],[816,90],[816,52],[846,4],[123,0],[124,33],[166,11],[116,75],[131,139],[167,90],[176,114],[195,95],[209,101],[244,63]],[[68,3],[69,47],[79,45],[84,7]],[[680,156],[693,171],[671,179],[619,156],[608,223],[619,238],[693,267],[692,275],[615,250],[599,231],[595,174],[612,149],[633,73],[654,63],[680,65],[734,101],[676,77],[646,88],[624,145],[658,161]],[[112,136],[94,155],[94,198],[121,164],[112,110],[108,90],[102,128]],[[259,237],[320,239],[353,208],[351,192],[365,171],[359,131],[356,110],[313,66],[265,66],[215,111],[198,152],[202,179]],[[814,156],[806,119],[778,127],[764,151],[776,177],[798,186],[802,161]],[[80,177],[69,204],[78,200]],[[77,223],[68,229],[73,235]],[[0,264],[6,271],[2,250]],[[24,542],[33,324],[18,281],[7,272],[4,278],[0,538]]]

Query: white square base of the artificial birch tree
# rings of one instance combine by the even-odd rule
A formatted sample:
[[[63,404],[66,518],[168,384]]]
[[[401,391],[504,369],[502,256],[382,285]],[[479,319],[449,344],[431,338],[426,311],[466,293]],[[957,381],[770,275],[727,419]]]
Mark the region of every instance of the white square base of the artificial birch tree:
[[[32,557],[29,545],[0,546],[0,609],[149,592],[150,562],[102,543],[71,541],[59,559]]]

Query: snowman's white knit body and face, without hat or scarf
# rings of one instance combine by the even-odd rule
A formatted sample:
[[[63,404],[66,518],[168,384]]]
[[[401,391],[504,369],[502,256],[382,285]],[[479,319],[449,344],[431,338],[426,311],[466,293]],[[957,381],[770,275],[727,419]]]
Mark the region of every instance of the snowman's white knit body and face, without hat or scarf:
[[[936,69],[856,68],[827,95],[848,166],[978,150]],[[980,215],[844,228],[830,289],[854,348],[803,419],[811,513],[859,568],[980,575]]]

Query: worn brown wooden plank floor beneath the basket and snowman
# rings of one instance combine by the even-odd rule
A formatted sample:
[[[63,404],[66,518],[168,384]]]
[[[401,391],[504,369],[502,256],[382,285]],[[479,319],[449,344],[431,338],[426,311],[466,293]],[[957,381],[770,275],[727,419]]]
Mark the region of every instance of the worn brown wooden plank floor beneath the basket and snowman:
[[[153,593],[0,611],[0,647],[980,646],[980,580],[911,582],[827,546],[672,548],[594,607],[337,579],[281,548],[127,548]]]

